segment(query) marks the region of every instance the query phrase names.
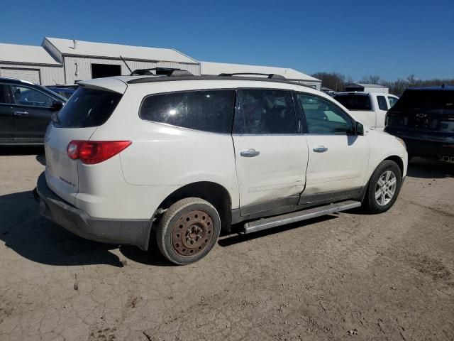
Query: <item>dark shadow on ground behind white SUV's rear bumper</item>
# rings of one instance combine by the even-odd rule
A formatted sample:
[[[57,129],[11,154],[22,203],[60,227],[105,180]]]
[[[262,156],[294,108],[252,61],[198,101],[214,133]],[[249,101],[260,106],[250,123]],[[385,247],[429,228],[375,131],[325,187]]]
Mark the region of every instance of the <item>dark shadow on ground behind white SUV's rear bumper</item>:
[[[41,264],[73,266],[107,264],[122,266],[111,250],[117,245],[92,242],[67,232],[38,213],[38,203],[32,192],[0,196],[0,239],[6,247],[21,256]],[[143,264],[169,265],[158,251],[141,251],[123,246],[121,253]]]

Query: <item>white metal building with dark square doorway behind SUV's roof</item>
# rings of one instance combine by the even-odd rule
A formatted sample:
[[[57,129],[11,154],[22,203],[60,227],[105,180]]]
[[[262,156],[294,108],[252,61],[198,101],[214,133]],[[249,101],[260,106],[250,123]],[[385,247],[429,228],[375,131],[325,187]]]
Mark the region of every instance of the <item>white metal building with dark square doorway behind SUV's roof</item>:
[[[171,48],[92,43],[82,40],[44,38],[43,48],[62,65],[65,84],[97,77],[129,75],[131,70],[174,67],[200,75],[200,63]]]

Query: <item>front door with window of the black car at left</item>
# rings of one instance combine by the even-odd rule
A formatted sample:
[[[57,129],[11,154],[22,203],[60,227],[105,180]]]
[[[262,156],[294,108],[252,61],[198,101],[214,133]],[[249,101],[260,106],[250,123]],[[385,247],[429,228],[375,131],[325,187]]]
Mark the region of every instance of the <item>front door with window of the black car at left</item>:
[[[42,144],[56,99],[26,85],[11,85],[11,93],[16,142]]]

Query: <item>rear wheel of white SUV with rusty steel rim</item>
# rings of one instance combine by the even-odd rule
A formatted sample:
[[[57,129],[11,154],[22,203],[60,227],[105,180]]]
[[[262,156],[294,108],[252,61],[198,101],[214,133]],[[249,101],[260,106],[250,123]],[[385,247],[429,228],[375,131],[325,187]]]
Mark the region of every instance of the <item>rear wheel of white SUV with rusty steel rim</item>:
[[[157,247],[175,264],[191,264],[213,249],[221,218],[208,201],[187,197],[164,212],[156,231]]]

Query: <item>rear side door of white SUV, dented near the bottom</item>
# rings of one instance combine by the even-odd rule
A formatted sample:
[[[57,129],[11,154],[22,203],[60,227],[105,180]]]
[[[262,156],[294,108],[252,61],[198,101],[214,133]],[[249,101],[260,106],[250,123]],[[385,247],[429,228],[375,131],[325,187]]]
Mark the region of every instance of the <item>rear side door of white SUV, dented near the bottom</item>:
[[[244,89],[237,98],[232,136],[240,214],[296,205],[304,190],[308,150],[292,92]]]

